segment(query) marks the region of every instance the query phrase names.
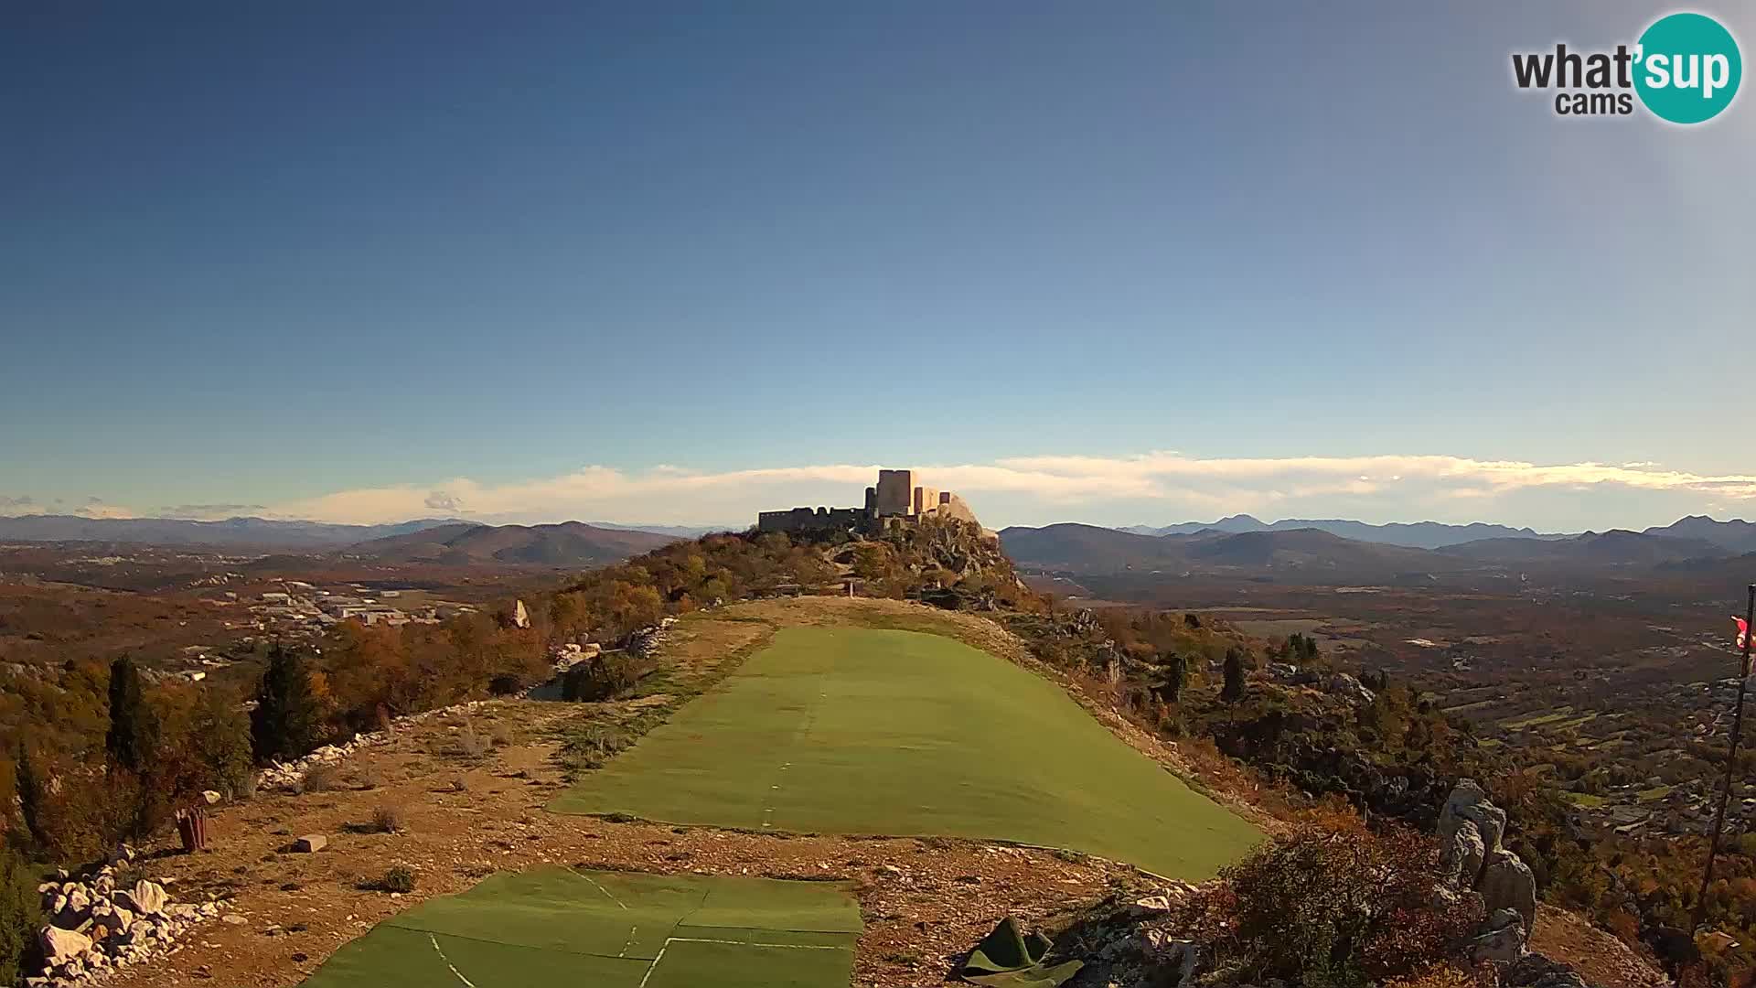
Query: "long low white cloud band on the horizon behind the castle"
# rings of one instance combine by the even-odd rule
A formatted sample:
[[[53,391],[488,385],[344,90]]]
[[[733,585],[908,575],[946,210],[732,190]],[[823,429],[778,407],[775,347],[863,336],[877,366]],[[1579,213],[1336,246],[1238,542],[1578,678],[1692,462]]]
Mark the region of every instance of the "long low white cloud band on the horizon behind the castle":
[[[1117,505],[1157,505],[1166,517],[1233,512],[1342,510],[1391,519],[1443,505],[1482,505],[1522,490],[1680,492],[1702,503],[1756,499],[1752,475],[1702,475],[1656,464],[1535,464],[1449,455],[1126,457],[1036,455],[918,468],[924,480],[964,494],[983,517],[1078,519]],[[339,490],[274,505],[276,517],[392,522],[434,513],[483,520],[613,520],[743,524],[764,508],[859,505],[878,464],[738,471],[587,466],[509,483],[467,476],[435,483]],[[1391,478],[1394,487],[1373,478]],[[1328,506],[1328,508],[1326,508]],[[989,508],[989,510],[985,510]],[[1008,517],[1010,515],[1010,517]]]

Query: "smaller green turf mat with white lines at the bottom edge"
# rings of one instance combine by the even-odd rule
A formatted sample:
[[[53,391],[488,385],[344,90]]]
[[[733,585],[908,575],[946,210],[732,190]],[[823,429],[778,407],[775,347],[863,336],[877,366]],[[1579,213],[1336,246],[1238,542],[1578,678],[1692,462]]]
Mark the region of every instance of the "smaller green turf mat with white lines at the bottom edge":
[[[846,988],[859,932],[839,883],[532,868],[385,919],[306,988]]]

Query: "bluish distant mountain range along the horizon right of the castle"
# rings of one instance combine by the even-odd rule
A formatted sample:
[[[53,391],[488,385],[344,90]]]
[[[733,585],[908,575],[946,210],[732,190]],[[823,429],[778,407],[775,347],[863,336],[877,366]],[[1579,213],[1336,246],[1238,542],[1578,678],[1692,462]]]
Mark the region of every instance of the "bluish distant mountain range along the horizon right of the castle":
[[[1716,522],[1705,517],[1682,519],[1647,531],[1607,531],[1584,534],[1515,534],[1472,538],[1442,545],[1403,545],[1421,534],[1435,540],[1443,531],[1489,533],[1528,531],[1503,526],[1370,526],[1364,522],[1299,522],[1266,526],[1249,515],[1222,519],[1219,526],[1166,529],[1106,529],[1082,524],[1045,527],[1010,527],[1001,543],[1020,564],[1050,570],[1105,573],[1120,570],[1177,571],[1282,571],[1289,577],[1326,575],[1333,578],[1382,580],[1415,573],[1463,573],[1482,570],[1549,568],[1705,568],[1714,561],[1756,552],[1756,526],[1742,520]],[[1261,526],[1261,527],[1250,527]],[[1349,538],[1342,531],[1364,531],[1375,538]],[[1227,531],[1241,529],[1241,531]],[[1166,534],[1152,534],[1166,531]],[[1735,568],[1733,564],[1728,564]]]

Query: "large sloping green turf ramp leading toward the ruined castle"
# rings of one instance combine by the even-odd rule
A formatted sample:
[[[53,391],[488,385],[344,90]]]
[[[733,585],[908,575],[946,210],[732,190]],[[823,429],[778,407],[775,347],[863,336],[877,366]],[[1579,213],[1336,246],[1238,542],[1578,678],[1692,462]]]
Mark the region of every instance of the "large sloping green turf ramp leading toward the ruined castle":
[[[938,635],[783,628],[557,812],[1066,847],[1206,879],[1261,833],[1059,686]]]

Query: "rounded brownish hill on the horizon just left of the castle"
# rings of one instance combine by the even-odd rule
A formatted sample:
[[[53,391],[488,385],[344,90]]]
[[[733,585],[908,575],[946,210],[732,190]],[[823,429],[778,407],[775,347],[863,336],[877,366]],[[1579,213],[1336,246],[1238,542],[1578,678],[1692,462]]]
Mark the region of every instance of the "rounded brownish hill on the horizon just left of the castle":
[[[515,566],[602,566],[676,541],[650,531],[604,529],[585,522],[478,526],[455,522],[409,534],[374,538],[346,556],[379,563],[500,563]]]

